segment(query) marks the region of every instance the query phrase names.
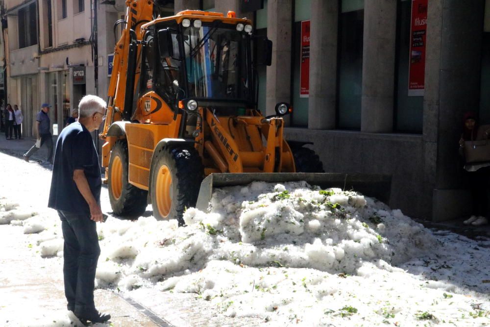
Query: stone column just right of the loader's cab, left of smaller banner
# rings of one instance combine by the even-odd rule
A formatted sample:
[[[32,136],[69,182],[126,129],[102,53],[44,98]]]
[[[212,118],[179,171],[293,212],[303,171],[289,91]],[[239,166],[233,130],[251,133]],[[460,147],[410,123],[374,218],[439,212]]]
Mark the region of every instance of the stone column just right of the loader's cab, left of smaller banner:
[[[292,0],[270,0],[267,37],[272,41],[272,65],[267,67],[266,115],[275,114],[277,102],[291,103]]]

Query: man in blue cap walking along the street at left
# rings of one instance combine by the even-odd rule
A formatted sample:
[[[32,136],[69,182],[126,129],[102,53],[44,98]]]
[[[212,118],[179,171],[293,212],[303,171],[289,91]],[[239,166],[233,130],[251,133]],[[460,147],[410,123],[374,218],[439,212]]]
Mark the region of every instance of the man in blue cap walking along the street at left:
[[[48,103],[43,103],[41,111],[37,113],[36,124],[34,125],[34,134],[37,141],[36,144],[24,154],[24,160],[27,162],[29,162],[30,156],[37,152],[43,144],[46,144],[48,147],[48,158],[46,159],[46,163],[52,163],[53,161],[53,138],[50,130],[51,120],[48,115],[50,107],[51,106]]]

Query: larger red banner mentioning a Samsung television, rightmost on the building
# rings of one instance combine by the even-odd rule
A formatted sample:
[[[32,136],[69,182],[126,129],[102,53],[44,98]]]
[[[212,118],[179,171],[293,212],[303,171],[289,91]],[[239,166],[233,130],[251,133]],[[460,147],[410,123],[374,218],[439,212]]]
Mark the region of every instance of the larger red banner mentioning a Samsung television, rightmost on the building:
[[[410,63],[408,72],[409,96],[424,95],[427,1],[428,0],[412,0]]]

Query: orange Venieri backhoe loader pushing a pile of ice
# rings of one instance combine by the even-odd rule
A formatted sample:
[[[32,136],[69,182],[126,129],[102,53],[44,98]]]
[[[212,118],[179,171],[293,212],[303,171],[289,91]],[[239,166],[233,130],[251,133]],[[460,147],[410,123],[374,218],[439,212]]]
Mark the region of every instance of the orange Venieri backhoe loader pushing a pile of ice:
[[[115,214],[139,215],[150,202],[157,219],[183,225],[185,208],[206,209],[217,186],[359,184],[345,174],[298,173],[323,172],[322,164],[304,144],[284,140],[288,103],[268,117],[256,109],[256,67],[270,65],[272,43],[255,37],[249,20],[198,10],[160,18],[158,1],[126,5],[99,135]],[[370,182],[382,185],[378,197],[386,198],[389,181]]]

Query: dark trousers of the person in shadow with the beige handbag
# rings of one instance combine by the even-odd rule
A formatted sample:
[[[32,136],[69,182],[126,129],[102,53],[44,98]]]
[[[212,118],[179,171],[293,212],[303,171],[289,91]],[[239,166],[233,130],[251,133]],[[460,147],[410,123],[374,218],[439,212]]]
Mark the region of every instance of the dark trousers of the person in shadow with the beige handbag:
[[[466,172],[466,176],[473,201],[471,214],[489,217],[490,167],[480,168],[476,172]]]

